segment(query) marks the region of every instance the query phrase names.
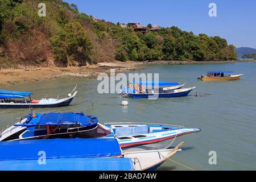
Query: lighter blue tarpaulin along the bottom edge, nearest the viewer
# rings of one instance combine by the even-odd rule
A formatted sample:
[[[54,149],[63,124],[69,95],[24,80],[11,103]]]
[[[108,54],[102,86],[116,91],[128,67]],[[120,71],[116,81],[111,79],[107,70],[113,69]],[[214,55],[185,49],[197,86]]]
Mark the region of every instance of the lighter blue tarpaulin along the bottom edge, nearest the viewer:
[[[63,158],[38,160],[0,161],[1,171],[131,171],[130,158]]]

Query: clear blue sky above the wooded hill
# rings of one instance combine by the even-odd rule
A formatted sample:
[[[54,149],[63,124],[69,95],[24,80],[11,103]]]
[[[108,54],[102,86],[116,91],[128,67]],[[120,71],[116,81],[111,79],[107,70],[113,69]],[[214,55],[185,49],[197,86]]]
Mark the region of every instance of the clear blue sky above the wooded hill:
[[[117,23],[139,22],[177,26],[195,34],[221,36],[236,47],[256,48],[255,0],[64,0],[79,11]],[[209,3],[217,5],[217,17],[208,15]]]

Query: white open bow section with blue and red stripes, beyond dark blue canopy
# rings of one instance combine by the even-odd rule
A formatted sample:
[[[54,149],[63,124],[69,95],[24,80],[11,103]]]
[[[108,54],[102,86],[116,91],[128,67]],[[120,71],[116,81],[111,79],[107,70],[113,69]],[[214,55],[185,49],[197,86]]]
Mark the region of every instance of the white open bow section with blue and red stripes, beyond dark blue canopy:
[[[115,137],[123,150],[144,150],[145,148],[164,148],[170,139],[185,134],[197,133],[201,129],[190,129],[177,125],[159,125],[156,123],[104,123],[112,130],[106,138]],[[132,147],[132,148],[131,148]]]

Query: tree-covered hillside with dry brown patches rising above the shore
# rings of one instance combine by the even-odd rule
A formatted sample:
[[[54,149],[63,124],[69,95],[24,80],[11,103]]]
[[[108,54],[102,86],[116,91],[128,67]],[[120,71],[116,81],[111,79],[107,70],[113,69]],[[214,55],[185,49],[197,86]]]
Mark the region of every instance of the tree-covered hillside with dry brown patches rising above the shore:
[[[38,16],[41,2],[46,17]],[[229,59],[236,59],[235,47],[218,36],[197,36],[174,26],[135,34],[61,0],[0,0],[0,67]]]

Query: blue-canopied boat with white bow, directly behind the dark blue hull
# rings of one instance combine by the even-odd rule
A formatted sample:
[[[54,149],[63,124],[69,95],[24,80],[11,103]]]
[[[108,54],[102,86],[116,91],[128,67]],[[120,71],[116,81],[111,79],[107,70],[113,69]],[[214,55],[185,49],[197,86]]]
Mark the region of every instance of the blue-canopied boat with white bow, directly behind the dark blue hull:
[[[168,93],[171,90],[180,89],[182,88],[184,84],[179,84],[177,82],[148,82],[148,81],[142,81],[142,82],[129,82],[128,87],[122,88],[122,90],[119,90],[118,94],[122,96],[133,96],[133,94],[136,93]],[[152,89],[148,89],[148,86]]]

